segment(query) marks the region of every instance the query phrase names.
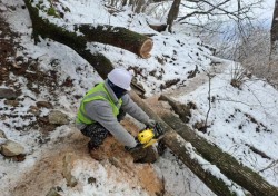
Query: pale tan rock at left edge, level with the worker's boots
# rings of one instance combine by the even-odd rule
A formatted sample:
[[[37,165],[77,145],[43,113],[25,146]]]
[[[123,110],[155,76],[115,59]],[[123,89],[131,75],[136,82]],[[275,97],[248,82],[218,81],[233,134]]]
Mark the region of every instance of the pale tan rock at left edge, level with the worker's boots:
[[[7,140],[7,143],[1,146],[1,154],[7,157],[13,157],[24,154],[24,148],[16,141]]]

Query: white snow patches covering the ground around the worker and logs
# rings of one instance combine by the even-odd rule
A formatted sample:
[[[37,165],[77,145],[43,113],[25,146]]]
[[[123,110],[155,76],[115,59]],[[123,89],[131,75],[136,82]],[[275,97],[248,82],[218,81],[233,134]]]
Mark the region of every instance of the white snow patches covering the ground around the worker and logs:
[[[198,67],[198,74],[208,70],[210,51],[202,46],[200,39],[193,36],[182,33],[169,35],[158,33],[147,26],[147,20],[153,20],[143,14],[130,14],[130,10],[118,13],[117,16],[109,14],[107,9],[98,0],[61,0],[58,8],[62,10],[61,4],[69,8],[71,12],[64,13],[64,20],[52,18],[57,23],[107,23],[112,26],[126,27],[130,30],[142,33],[156,33],[152,37],[155,46],[151,51],[151,58],[140,59],[129,51],[118,49],[101,43],[90,43],[88,48],[99,50],[113,62],[116,67],[125,67],[136,70],[140,69],[140,74],[135,77],[140,81],[147,95],[151,96],[155,92],[163,90],[166,81],[180,79],[180,81],[170,88],[182,86],[190,72]],[[11,6],[16,10],[9,9]],[[22,50],[18,50],[19,55],[38,59],[39,70],[50,74],[56,72],[57,81],[49,86],[36,86],[40,94],[32,92],[26,84],[24,77],[10,75],[14,80],[14,85],[22,89],[21,101],[22,107],[12,110],[12,107],[6,106],[6,110],[1,110],[1,116],[8,112],[18,114],[19,117],[13,119],[6,118],[0,121],[2,129],[8,138],[18,141],[26,148],[27,157],[22,163],[14,163],[6,159],[0,155],[0,190],[7,196],[9,187],[12,188],[28,170],[31,170],[36,163],[49,153],[53,147],[58,147],[61,138],[70,138],[76,131],[72,128],[75,115],[79,105],[80,97],[95,84],[102,79],[96,74],[93,68],[83,59],[76,55],[71,49],[51,40],[41,40],[40,43],[33,45],[31,40],[31,21],[27,9],[22,9],[23,2],[16,0],[3,0],[1,9],[9,10],[6,12],[7,19],[11,24],[12,30],[20,32],[20,45]],[[46,3],[46,6],[49,6]],[[43,13],[42,13],[43,14]],[[209,114],[209,125],[207,134],[200,134],[208,140],[217,144],[225,151],[232,154],[238,160],[245,165],[260,170],[266,168],[271,161],[278,157],[277,149],[277,97],[278,92],[264,81],[255,78],[248,79],[242,89],[236,89],[229,85],[230,68],[222,75],[216,76],[211,80],[211,97],[215,101]],[[150,75],[150,72],[152,72]],[[51,78],[51,75],[49,75]],[[67,79],[72,80],[71,87],[62,86]],[[49,84],[48,84],[49,85]],[[193,118],[190,119],[190,125],[206,118],[208,110],[208,84],[199,87],[189,95],[182,95],[178,100],[182,102],[193,101],[197,105],[197,110],[193,110]],[[20,118],[20,115],[27,115],[30,106],[37,100],[47,100],[51,102],[56,109],[64,111],[71,117],[71,125],[56,128],[50,135],[43,135],[36,128],[28,129],[28,125],[34,121],[34,117],[29,119]],[[3,100],[0,100],[0,106],[4,106]],[[41,117],[47,116],[49,109],[41,112]],[[9,125],[9,126],[7,126]],[[20,127],[27,126],[23,130]],[[19,127],[19,129],[16,129]],[[241,127],[241,128],[240,128]],[[254,146],[266,153],[271,159],[265,159],[257,154],[250,151],[249,146]],[[93,165],[93,166],[92,166]],[[95,167],[96,170],[90,170]],[[165,180],[166,193],[175,196],[183,195],[214,195],[188,168],[177,160],[169,151],[153,165],[157,173]],[[271,184],[278,186],[276,179],[277,168],[266,169],[260,173]],[[16,170],[16,173],[14,173]],[[118,183],[117,178],[109,178],[107,170],[101,164],[82,163],[80,161],[75,167],[75,175],[83,185],[80,189],[68,189],[64,182],[59,184],[64,190],[64,195],[143,195],[146,194],[140,188],[130,188],[126,183]],[[101,179],[101,185],[90,186],[86,184],[88,176],[95,175]],[[113,193],[109,193],[115,187]],[[106,190],[105,188],[108,188]],[[125,192],[122,192],[125,190]]]

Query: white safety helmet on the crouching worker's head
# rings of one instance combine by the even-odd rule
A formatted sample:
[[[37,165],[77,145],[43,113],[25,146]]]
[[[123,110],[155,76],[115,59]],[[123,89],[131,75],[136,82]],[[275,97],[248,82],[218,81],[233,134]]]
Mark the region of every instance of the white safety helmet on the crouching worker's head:
[[[116,86],[123,88],[126,90],[131,90],[130,82],[132,76],[129,71],[121,68],[115,68],[108,74],[108,79]]]

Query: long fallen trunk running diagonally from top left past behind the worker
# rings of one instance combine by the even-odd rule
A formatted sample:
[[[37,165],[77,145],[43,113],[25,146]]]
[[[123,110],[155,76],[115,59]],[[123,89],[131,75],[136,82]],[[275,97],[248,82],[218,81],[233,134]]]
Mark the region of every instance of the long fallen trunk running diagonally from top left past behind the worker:
[[[107,77],[107,74],[113,68],[110,60],[101,53],[91,53],[87,50],[86,45],[88,39],[93,38],[77,35],[50,23],[48,20],[39,17],[38,9],[33,8],[29,0],[24,0],[24,2],[31,16],[34,36],[40,35],[44,38],[47,37],[53,39],[54,41],[72,48],[97,70],[100,77],[103,79]],[[212,192],[217,195],[235,195],[222,179],[219,179],[208,170],[203,169],[196,159],[190,157],[191,151],[185,147],[185,139],[179,137],[179,135],[171,127],[162,121],[133,91],[131,91],[130,95],[151,118],[159,121],[165,130],[168,131],[163,138],[163,143],[185,163],[185,165],[187,165],[201,180],[203,180]]]

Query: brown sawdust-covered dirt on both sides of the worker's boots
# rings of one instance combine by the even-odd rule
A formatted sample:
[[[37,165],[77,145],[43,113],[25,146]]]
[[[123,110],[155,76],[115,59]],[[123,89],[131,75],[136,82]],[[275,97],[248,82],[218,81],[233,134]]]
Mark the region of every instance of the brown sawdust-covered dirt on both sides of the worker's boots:
[[[123,126],[128,130],[137,131],[135,124],[125,120]],[[72,153],[77,160],[96,163],[107,168],[108,177],[119,174],[117,182],[128,183],[130,187],[141,187],[150,196],[161,195],[163,193],[163,183],[156,174],[151,164],[133,164],[132,157],[125,151],[113,137],[108,137],[98,154],[102,160],[98,161],[90,157],[87,143],[79,130],[67,137],[67,140],[57,141],[51,150],[43,154],[43,157],[37,160],[36,165],[17,183],[10,190],[11,195],[21,196],[41,196],[46,195],[51,187],[56,187],[63,179],[62,158],[67,153]],[[50,175],[51,174],[51,175]],[[116,182],[116,183],[117,183]]]

